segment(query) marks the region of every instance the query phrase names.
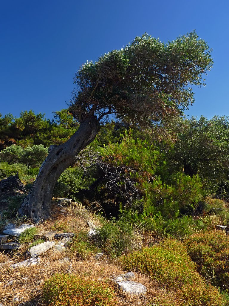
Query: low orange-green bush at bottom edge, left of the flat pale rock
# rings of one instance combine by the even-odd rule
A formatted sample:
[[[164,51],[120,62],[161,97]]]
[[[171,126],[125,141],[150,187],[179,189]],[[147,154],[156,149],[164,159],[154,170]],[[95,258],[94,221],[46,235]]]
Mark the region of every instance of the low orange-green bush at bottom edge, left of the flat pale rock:
[[[45,281],[43,295],[50,306],[115,306],[114,292],[107,284],[56,274]]]

